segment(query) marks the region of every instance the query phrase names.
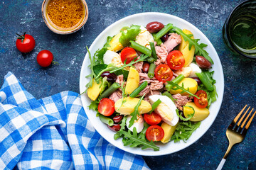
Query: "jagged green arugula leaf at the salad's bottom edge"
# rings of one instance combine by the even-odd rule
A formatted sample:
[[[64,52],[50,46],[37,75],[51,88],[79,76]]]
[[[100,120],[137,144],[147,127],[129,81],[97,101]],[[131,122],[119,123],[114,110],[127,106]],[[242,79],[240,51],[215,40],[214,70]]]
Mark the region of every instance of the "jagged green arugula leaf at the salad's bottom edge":
[[[154,151],[159,151],[159,147],[156,147],[154,142],[147,142],[145,137],[139,138],[135,127],[133,132],[131,132],[131,130],[128,130],[128,132],[120,130],[117,133],[123,135],[122,142],[124,143],[124,146],[130,145],[129,147],[142,147],[142,149],[152,148]]]

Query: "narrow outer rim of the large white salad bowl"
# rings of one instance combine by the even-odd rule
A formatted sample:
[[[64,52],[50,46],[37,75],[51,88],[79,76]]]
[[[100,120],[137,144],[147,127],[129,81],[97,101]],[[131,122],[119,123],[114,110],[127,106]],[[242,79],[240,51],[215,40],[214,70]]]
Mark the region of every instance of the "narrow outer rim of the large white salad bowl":
[[[105,33],[107,33],[107,31],[110,30],[110,28],[114,27],[114,26],[118,26],[119,23],[122,23],[123,21],[129,19],[129,18],[133,18],[133,17],[137,17],[137,16],[141,16],[141,15],[159,15],[159,16],[166,16],[166,17],[172,17],[172,18],[175,18],[177,19],[178,21],[182,21],[183,23],[185,23],[187,26],[191,27],[192,29],[194,30],[197,30],[199,31],[199,33],[201,34],[201,36],[203,37],[203,40],[206,40],[207,41],[207,44],[208,46],[211,46],[212,47],[212,50],[213,52],[215,53],[214,55],[216,56],[215,57],[215,60],[217,60],[218,62],[218,65],[219,65],[219,68],[220,69],[220,75],[218,75],[218,77],[220,78],[220,94],[218,94],[218,106],[214,108],[214,110],[216,111],[216,114],[214,115],[213,117],[213,120],[209,123],[208,127],[204,128],[203,132],[201,132],[200,135],[198,135],[198,137],[196,137],[196,140],[193,140],[192,142],[190,142],[189,144],[187,144],[185,147],[181,148],[181,149],[176,149],[176,151],[174,152],[144,152],[141,148],[139,148],[139,152],[137,150],[131,150],[130,147],[124,147],[124,146],[120,146],[120,145],[114,145],[109,138],[107,137],[104,137],[104,133],[103,132],[100,132],[100,128],[97,128],[97,126],[95,128],[95,130],[97,130],[97,132],[100,133],[100,135],[105,139],[107,140],[108,142],[110,142],[112,145],[114,145],[115,147],[118,147],[119,149],[122,149],[126,152],[129,152],[129,153],[132,153],[132,154],[138,154],[138,155],[142,155],[142,156],[162,156],[162,155],[166,155],[166,154],[172,154],[172,153],[175,153],[175,152],[178,152],[182,149],[185,149],[186,147],[189,147],[190,145],[192,145],[193,143],[195,143],[196,141],[198,141],[203,135],[205,135],[205,133],[208,131],[208,129],[211,127],[211,125],[213,124],[213,122],[215,121],[215,118],[217,117],[219,111],[220,111],[220,107],[222,105],[222,101],[223,101],[223,94],[224,94],[224,74],[223,74],[223,67],[221,65],[221,62],[220,62],[220,57],[218,56],[218,53],[216,52],[215,48],[213,47],[212,43],[210,42],[210,40],[208,40],[208,38],[206,37],[206,35],[204,35],[201,30],[199,30],[198,28],[196,28],[196,26],[193,26],[193,24],[189,23],[188,21],[184,20],[183,18],[179,18],[178,16],[173,16],[171,14],[168,14],[168,13],[159,13],[159,12],[144,12],[144,13],[136,13],[136,14],[133,14],[131,16],[127,16],[127,17],[124,17],[118,21],[115,21],[114,23],[112,23],[110,26],[108,26],[107,28],[105,28],[105,30],[103,30],[100,35],[97,36],[97,38],[95,38],[95,40],[92,42],[92,44],[90,45],[90,48],[89,50],[92,51],[92,47],[95,46],[95,44],[97,44],[97,42],[100,40],[100,38],[102,37],[102,35],[104,35]],[[95,48],[95,47],[94,47]],[[83,89],[85,89],[84,86],[82,86],[82,80],[84,80],[85,78],[83,77],[85,73],[84,72],[84,69],[85,69],[85,66],[87,67],[87,63],[86,63],[86,59],[88,57],[88,52],[86,53],[85,55],[85,58],[82,62],[82,67],[81,67],[81,71],[80,71],[80,94],[82,94],[84,92]],[[87,109],[87,105],[86,105],[86,101],[85,101],[85,98],[86,96],[85,95],[82,95],[80,96],[81,97],[81,101],[82,101],[82,106],[85,108],[85,110]],[[87,114],[87,113],[86,113]],[[90,120],[90,117],[87,116]],[[102,135],[103,134],[103,135]]]

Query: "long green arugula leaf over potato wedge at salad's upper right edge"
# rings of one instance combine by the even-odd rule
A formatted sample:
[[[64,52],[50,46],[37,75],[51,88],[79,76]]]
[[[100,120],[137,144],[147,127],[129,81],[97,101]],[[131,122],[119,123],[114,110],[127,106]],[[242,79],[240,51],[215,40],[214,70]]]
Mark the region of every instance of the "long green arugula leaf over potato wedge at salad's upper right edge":
[[[208,52],[206,52],[206,50],[203,50],[204,47],[207,47],[206,44],[204,44],[204,43],[198,44],[198,41],[200,39],[192,39],[191,38],[193,36],[192,34],[183,33],[183,31],[180,28],[174,27],[173,30],[175,30],[176,33],[182,35],[182,37],[185,41],[189,42],[189,46],[188,46],[189,50],[191,50],[192,45],[194,45],[195,46],[195,54],[203,55],[203,57],[205,57],[211,64],[213,64],[213,60],[210,58]]]

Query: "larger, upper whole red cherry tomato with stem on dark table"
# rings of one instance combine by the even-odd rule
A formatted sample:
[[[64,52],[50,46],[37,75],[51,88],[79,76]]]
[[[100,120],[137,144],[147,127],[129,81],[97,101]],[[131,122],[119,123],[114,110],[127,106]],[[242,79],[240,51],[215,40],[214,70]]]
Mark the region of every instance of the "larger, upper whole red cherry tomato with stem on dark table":
[[[32,35],[26,33],[24,33],[24,35],[18,35],[16,47],[20,52],[31,52],[35,45],[36,42]]]

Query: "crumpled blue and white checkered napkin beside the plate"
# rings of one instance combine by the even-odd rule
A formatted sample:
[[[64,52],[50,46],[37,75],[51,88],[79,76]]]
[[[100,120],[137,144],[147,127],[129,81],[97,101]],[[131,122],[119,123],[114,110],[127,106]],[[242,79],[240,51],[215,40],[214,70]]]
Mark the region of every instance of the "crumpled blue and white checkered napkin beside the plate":
[[[10,72],[0,90],[0,169],[149,169],[95,131],[78,94],[36,100]]]

